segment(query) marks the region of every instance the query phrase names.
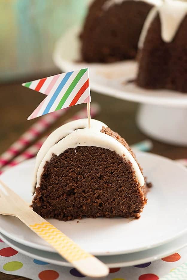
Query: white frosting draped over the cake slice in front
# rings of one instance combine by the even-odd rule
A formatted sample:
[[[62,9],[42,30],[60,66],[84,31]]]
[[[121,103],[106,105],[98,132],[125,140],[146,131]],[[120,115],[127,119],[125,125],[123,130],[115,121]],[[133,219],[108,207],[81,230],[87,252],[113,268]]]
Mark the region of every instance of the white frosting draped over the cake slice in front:
[[[127,150],[126,147],[124,147],[120,142],[118,142],[116,139],[114,139],[112,136],[109,136],[105,133],[100,132],[102,126],[106,127],[105,124],[103,124],[100,121],[91,120],[91,127],[92,128],[79,128],[77,130],[72,129],[72,127],[83,127],[83,124],[85,126],[87,123],[87,119],[83,120],[77,120],[73,121],[69,124],[66,124],[62,127],[60,127],[57,132],[55,130],[51,135],[53,134],[53,137],[55,136],[56,139],[60,139],[62,135],[66,135],[62,140],[60,140],[57,144],[52,143],[51,135],[46,140],[46,143],[43,144],[41,155],[37,156],[37,165],[36,165],[36,171],[35,174],[37,174],[37,188],[40,184],[40,176],[43,173],[43,168],[45,166],[46,161],[50,161],[52,154],[55,154],[59,156],[61,153],[63,153],[65,150],[69,148],[75,148],[76,153],[76,147],[78,146],[94,146],[94,147],[102,147],[105,149],[109,149],[112,151],[115,151],[119,156],[123,157],[125,160],[128,160],[132,163],[133,169],[136,172],[136,178],[141,186],[145,184],[144,177],[142,175],[142,172],[139,169],[139,166],[136,162],[136,160],[133,158],[131,153]],[[73,124],[73,126],[72,126]],[[76,125],[77,124],[77,125]],[[69,130],[67,129],[69,125]],[[66,126],[66,129],[63,129],[63,127]],[[71,132],[70,132],[71,130]],[[67,135],[67,131],[70,133]],[[50,139],[49,139],[50,138]],[[56,143],[56,141],[53,141]],[[51,146],[49,149],[47,147]],[[48,150],[44,155],[44,150]],[[39,152],[40,153],[40,152]],[[42,160],[41,160],[42,159]],[[40,162],[40,163],[39,163]],[[39,163],[39,167],[37,168]]]

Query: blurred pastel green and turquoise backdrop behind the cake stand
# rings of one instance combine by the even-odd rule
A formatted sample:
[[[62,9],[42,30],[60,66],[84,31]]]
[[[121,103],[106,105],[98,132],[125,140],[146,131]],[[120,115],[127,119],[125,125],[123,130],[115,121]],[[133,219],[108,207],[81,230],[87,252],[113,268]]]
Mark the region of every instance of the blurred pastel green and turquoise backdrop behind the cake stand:
[[[1,0],[0,82],[50,73],[55,41],[82,21],[89,0]]]

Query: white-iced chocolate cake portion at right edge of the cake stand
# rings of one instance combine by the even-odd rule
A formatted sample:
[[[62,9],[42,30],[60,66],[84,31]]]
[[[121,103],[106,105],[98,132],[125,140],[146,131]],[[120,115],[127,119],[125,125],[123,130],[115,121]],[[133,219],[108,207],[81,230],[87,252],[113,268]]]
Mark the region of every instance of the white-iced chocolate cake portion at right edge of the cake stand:
[[[139,41],[137,85],[187,92],[187,2],[165,0],[150,11]]]

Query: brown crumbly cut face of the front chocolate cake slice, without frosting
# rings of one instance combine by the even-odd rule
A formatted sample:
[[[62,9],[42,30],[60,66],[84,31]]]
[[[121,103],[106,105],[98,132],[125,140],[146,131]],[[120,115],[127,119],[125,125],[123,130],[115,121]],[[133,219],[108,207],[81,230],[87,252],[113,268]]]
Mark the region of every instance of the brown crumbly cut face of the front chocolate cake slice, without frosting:
[[[33,209],[42,217],[139,217],[146,197],[130,162],[100,147],[69,148],[46,162]]]

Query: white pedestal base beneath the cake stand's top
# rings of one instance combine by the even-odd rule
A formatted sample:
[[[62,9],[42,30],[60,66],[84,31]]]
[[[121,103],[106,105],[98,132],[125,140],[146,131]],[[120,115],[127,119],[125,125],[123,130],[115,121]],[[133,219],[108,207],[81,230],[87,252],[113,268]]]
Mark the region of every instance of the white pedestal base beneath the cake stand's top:
[[[143,133],[156,140],[187,146],[187,108],[141,104],[136,122]]]

